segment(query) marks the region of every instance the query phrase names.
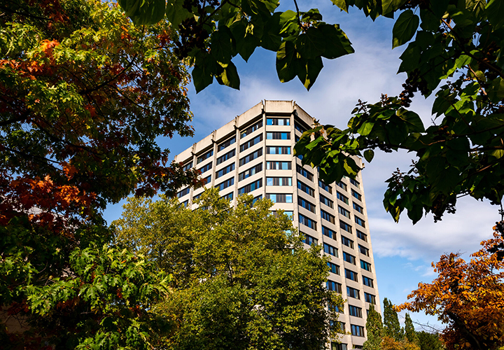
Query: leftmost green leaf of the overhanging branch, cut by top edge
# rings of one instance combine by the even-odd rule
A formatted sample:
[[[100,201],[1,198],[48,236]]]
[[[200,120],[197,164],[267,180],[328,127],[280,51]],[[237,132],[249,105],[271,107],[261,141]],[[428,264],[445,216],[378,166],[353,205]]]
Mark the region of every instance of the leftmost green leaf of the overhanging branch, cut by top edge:
[[[165,17],[165,0],[118,0],[135,25],[153,25]]]

